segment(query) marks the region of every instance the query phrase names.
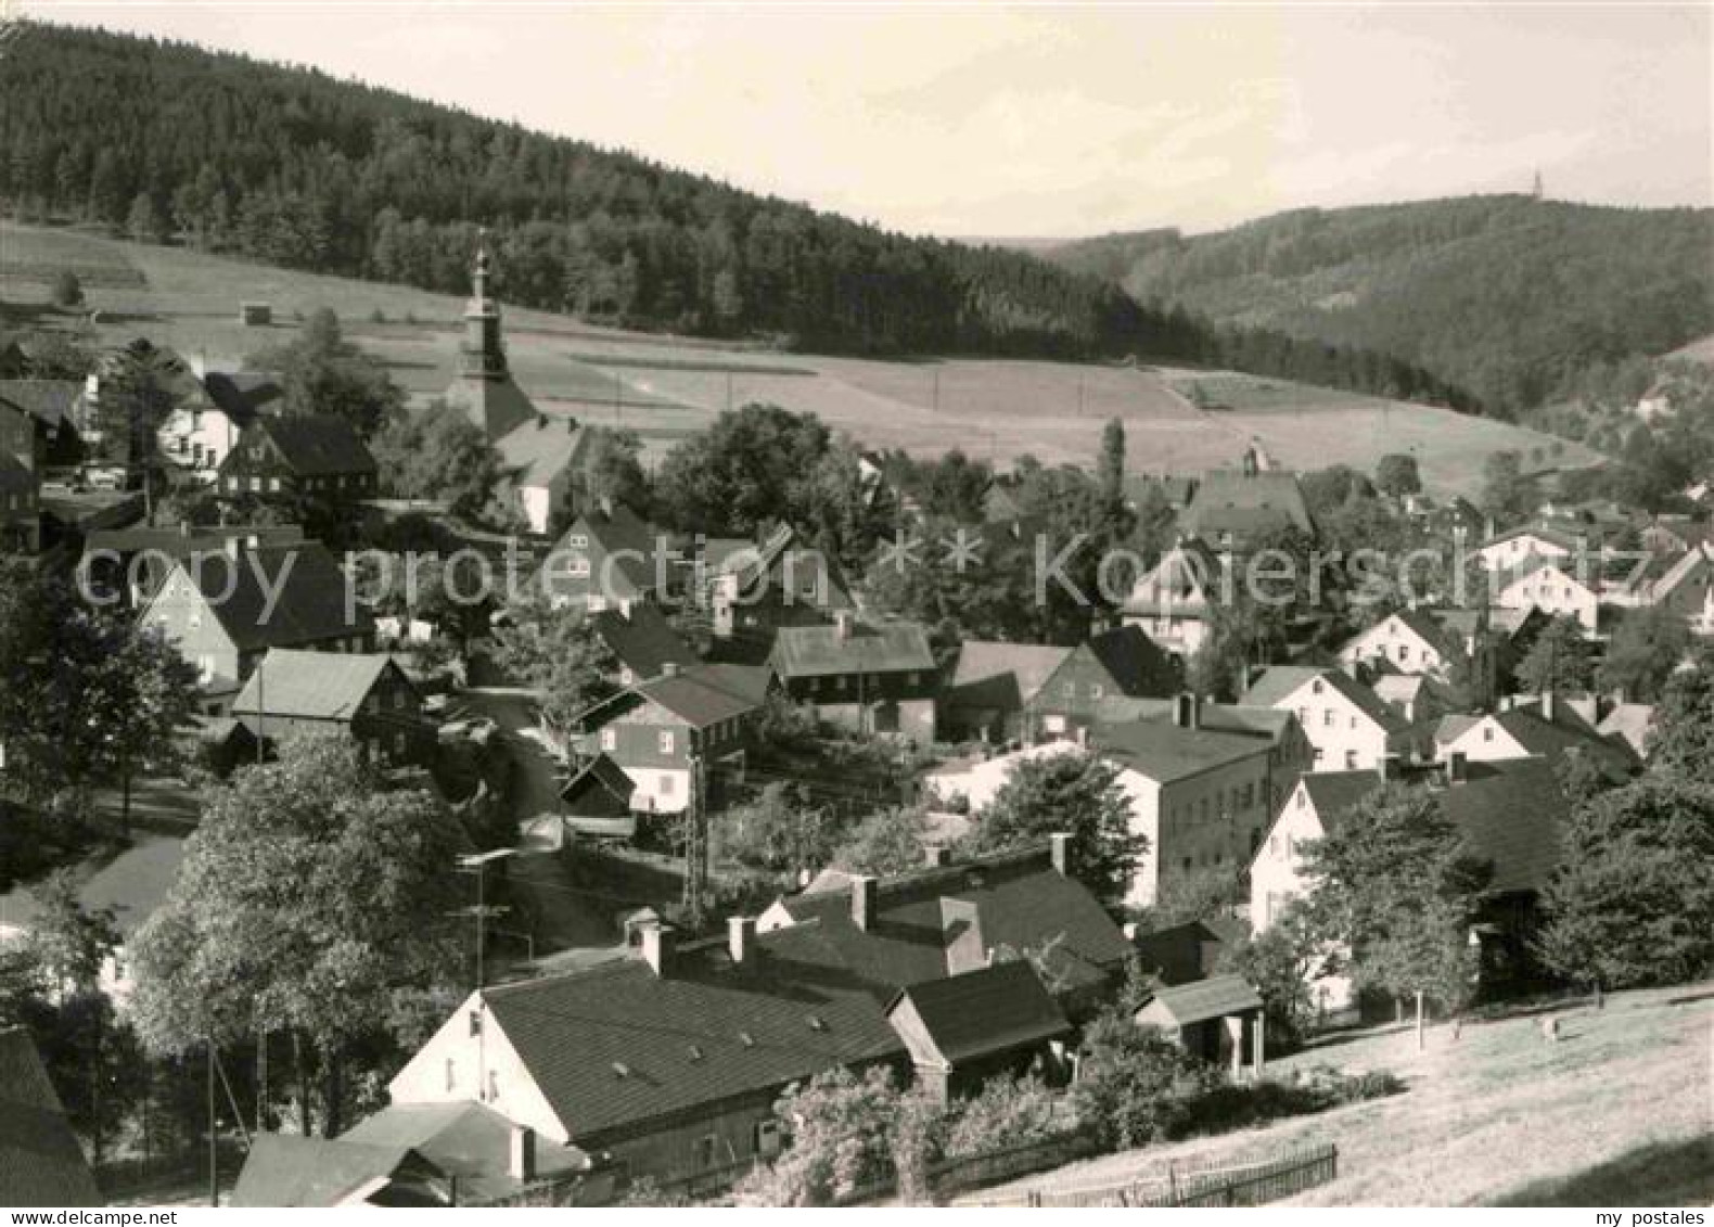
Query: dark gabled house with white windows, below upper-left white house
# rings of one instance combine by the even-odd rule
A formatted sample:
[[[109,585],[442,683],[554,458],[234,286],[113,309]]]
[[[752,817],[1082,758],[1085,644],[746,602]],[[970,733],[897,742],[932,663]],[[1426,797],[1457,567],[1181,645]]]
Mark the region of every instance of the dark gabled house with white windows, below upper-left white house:
[[[355,502],[375,497],[375,458],[345,418],[257,416],[219,463],[219,492]]]

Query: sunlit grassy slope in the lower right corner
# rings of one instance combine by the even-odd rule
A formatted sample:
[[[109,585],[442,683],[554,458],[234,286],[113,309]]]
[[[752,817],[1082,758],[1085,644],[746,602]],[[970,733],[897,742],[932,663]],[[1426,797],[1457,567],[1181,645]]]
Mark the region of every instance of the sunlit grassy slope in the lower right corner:
[[[1388,1069],[1409,1090],[1220,1138],[1063,1167],[1006,1189],[1100,1188],[1167,1160],[1241,1165],[1332,1141],[1339,1179],[1297,1205],[1709,1205],[1714,1200],[1714,984],[1625,992],[1606,1009],[1428,1032],[1332,1037],[1279,1066]],[[1003,1189],[970,1194],[979,1203]]]

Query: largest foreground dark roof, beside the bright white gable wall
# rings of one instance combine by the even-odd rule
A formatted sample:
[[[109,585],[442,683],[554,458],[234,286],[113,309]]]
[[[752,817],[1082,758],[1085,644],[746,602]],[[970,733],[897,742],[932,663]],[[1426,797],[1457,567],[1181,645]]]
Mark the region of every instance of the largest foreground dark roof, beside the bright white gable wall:
[[[763,934],[734,967],[723,943],[483,991],[579,1146],[703,1105],[754,1098],[838,1066],[900,1061],[881,1004],[819,925]]]

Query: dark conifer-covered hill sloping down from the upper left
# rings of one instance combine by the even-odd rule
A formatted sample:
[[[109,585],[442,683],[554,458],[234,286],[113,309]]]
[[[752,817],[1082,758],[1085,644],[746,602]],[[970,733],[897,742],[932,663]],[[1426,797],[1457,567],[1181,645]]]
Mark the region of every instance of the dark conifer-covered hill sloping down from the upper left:
[[[872,353],[1190,358],[1469,408],[1405,363],[1214,329],[1022,252],[903,235],[326,74],[33,26],[0,72],[0,197],[271,264],[634,327]]]

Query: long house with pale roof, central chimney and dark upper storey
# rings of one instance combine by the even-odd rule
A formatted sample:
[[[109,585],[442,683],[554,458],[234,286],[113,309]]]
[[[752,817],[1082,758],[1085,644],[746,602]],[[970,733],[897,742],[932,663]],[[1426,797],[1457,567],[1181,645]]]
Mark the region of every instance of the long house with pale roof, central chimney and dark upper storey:
[[[919,742],[936,737],[939,668],[915,622],[859,622],[836,610],[833,625],[782,627],[768,660],[785,694],[819,720]]]

